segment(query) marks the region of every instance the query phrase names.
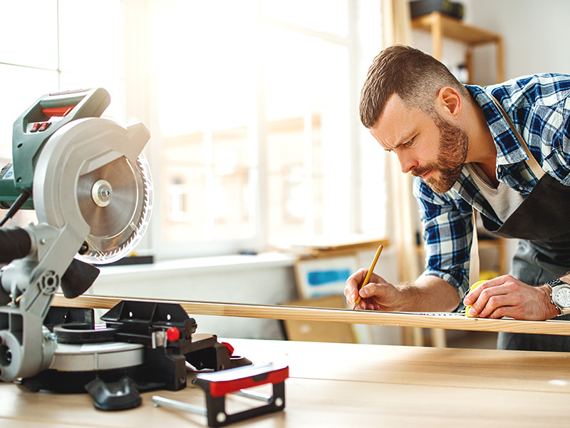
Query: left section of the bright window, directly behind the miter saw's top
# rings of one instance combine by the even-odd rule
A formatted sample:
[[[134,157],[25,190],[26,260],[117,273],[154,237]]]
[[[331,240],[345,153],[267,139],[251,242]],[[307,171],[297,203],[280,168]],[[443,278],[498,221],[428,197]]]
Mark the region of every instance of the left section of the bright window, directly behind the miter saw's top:
[[[14,121],[46,93],[102,86],[113,98],[105,116],[124,121],[120,6],[120,0],[23,0],[2,5],[0,168],[12,158]],[[30,221],[36,221],[31,211],[14,217],[19,225]]]

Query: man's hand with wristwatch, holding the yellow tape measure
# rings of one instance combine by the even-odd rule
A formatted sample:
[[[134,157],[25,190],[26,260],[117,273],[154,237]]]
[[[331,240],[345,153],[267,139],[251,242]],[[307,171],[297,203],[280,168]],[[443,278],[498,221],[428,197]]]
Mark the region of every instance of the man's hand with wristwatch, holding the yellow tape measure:
[[[532,287],[511,275],[482,283],[465,296],[463,303],[472,305],[469,310],[472,317],[549,320],[556,316],[548,286]]]

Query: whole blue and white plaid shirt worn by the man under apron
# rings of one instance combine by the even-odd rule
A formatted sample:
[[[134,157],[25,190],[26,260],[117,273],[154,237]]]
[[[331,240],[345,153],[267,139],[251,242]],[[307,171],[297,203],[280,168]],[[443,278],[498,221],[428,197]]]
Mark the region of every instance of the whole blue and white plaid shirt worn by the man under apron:
[[[528,168],[527,153],[489,93],[502,105],[542,169],[570,185],[570,76],[540,74],[499,85],[467,86],[482,107],[497,147],[497,178],[528,195],[537,178]],[[464,166],[460,178],[444,194],[434,193],[422,178],[414,178],[414,195],[424,228],[426,266],[423,275],[450,282],[463,297],[469,289],[472,209],[502,225]]]

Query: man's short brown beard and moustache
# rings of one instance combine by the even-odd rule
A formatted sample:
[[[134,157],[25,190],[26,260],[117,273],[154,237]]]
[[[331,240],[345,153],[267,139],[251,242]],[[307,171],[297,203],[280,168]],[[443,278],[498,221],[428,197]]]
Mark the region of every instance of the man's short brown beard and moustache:
[[[435,193],[445,193],[452,188],[461,174],[465,158],[467,158],[469,136],[459,126],[448,123],[440,116],[436,116],[435,125],[440,130],[440,148],[437,151],[437,161],[421,169],[413,170],[412,174],[420,177],[430,170],[434,173],[439,171],[439,179],[430,174],[425,178],[425,183]]]

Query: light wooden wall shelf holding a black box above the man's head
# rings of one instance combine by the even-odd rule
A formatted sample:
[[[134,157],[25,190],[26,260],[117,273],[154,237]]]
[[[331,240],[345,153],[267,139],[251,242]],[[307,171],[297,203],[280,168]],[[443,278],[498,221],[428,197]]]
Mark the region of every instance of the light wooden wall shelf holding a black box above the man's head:
[[[473,49],[477,46],[494,44],[497,61],[496,81],[504,81],[504,44],[500,34],[464,24],[459,19],[441,14],[440,12],[432,12],[431,14],[413,19],[412,27],[414,29],[427,31],[431,34],[432,55],[437,59],[441,60],[442,58],[443,39],[447,38],[460,41],[467,46],[465,66],[469,73],[469,81],[466,83],[473,83],[471,81],[473,76]]]

